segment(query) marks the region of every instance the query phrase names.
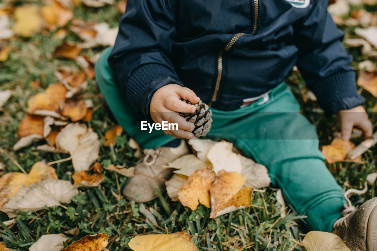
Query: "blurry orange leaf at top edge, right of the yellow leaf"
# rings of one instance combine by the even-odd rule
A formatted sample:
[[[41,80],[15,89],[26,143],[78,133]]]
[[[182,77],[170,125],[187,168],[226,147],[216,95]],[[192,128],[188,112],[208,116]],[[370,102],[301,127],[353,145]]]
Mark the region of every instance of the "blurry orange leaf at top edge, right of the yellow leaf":
[[[73,18],[73,12],[56,0],[52,0],[48,6],[43,6],[41,12],[50,31],[65,26]]]

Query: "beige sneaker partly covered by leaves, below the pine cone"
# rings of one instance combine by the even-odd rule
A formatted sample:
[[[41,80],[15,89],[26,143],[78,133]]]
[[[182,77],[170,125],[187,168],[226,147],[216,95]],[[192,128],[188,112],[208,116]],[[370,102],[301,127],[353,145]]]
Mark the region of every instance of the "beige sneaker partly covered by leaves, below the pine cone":
[[[136,163],[136,173],[123,189],[124,197],[136,202],[148,202],[158,197],[156,187],[161,192],[165,191],[165,181],[172,176],[173,169],[164,168],[162,165],[167,165],[176,158],[186,155],[189,153],[189,148],[182,139],[178,147],[158,147],[155,150],[144,149],[143,151],[144,158]]]

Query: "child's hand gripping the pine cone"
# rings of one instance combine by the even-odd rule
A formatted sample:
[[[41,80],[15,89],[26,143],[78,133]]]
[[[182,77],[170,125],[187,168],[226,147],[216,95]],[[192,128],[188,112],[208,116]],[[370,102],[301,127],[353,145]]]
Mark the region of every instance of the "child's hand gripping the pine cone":
[[[161,87],[156,90],[150,101],[150,116],[155,123],[161,124],[162,121],[178,123],[178,130],[163,130],[167,135],[191,139],[193,137],[191,131],[195,126],[179,116],[178,112],[194,112],[195,106],[182,102],[181,98],[193,104],[200,101],[195,92],[187,87],[182,87],[178,84],[168,84]]]

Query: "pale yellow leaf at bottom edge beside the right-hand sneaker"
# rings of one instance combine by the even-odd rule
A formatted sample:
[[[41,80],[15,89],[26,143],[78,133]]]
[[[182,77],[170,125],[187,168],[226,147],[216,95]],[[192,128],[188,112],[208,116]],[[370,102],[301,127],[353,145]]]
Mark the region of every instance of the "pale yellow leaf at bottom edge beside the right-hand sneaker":
[[[302,245],[308,251],[351,251],[343,240],[333,233],[310,231],[302,240]]]

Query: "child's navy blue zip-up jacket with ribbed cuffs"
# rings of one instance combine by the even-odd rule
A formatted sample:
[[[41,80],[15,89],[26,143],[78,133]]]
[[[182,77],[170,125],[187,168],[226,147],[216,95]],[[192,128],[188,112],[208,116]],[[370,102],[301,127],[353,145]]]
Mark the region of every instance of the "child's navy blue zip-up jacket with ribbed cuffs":
[[[328,0],[128,0],[109,57],[146,116],[160,87],[192,89],[220,110],[276,87],[297,65],[326,113],[365,101]]]

